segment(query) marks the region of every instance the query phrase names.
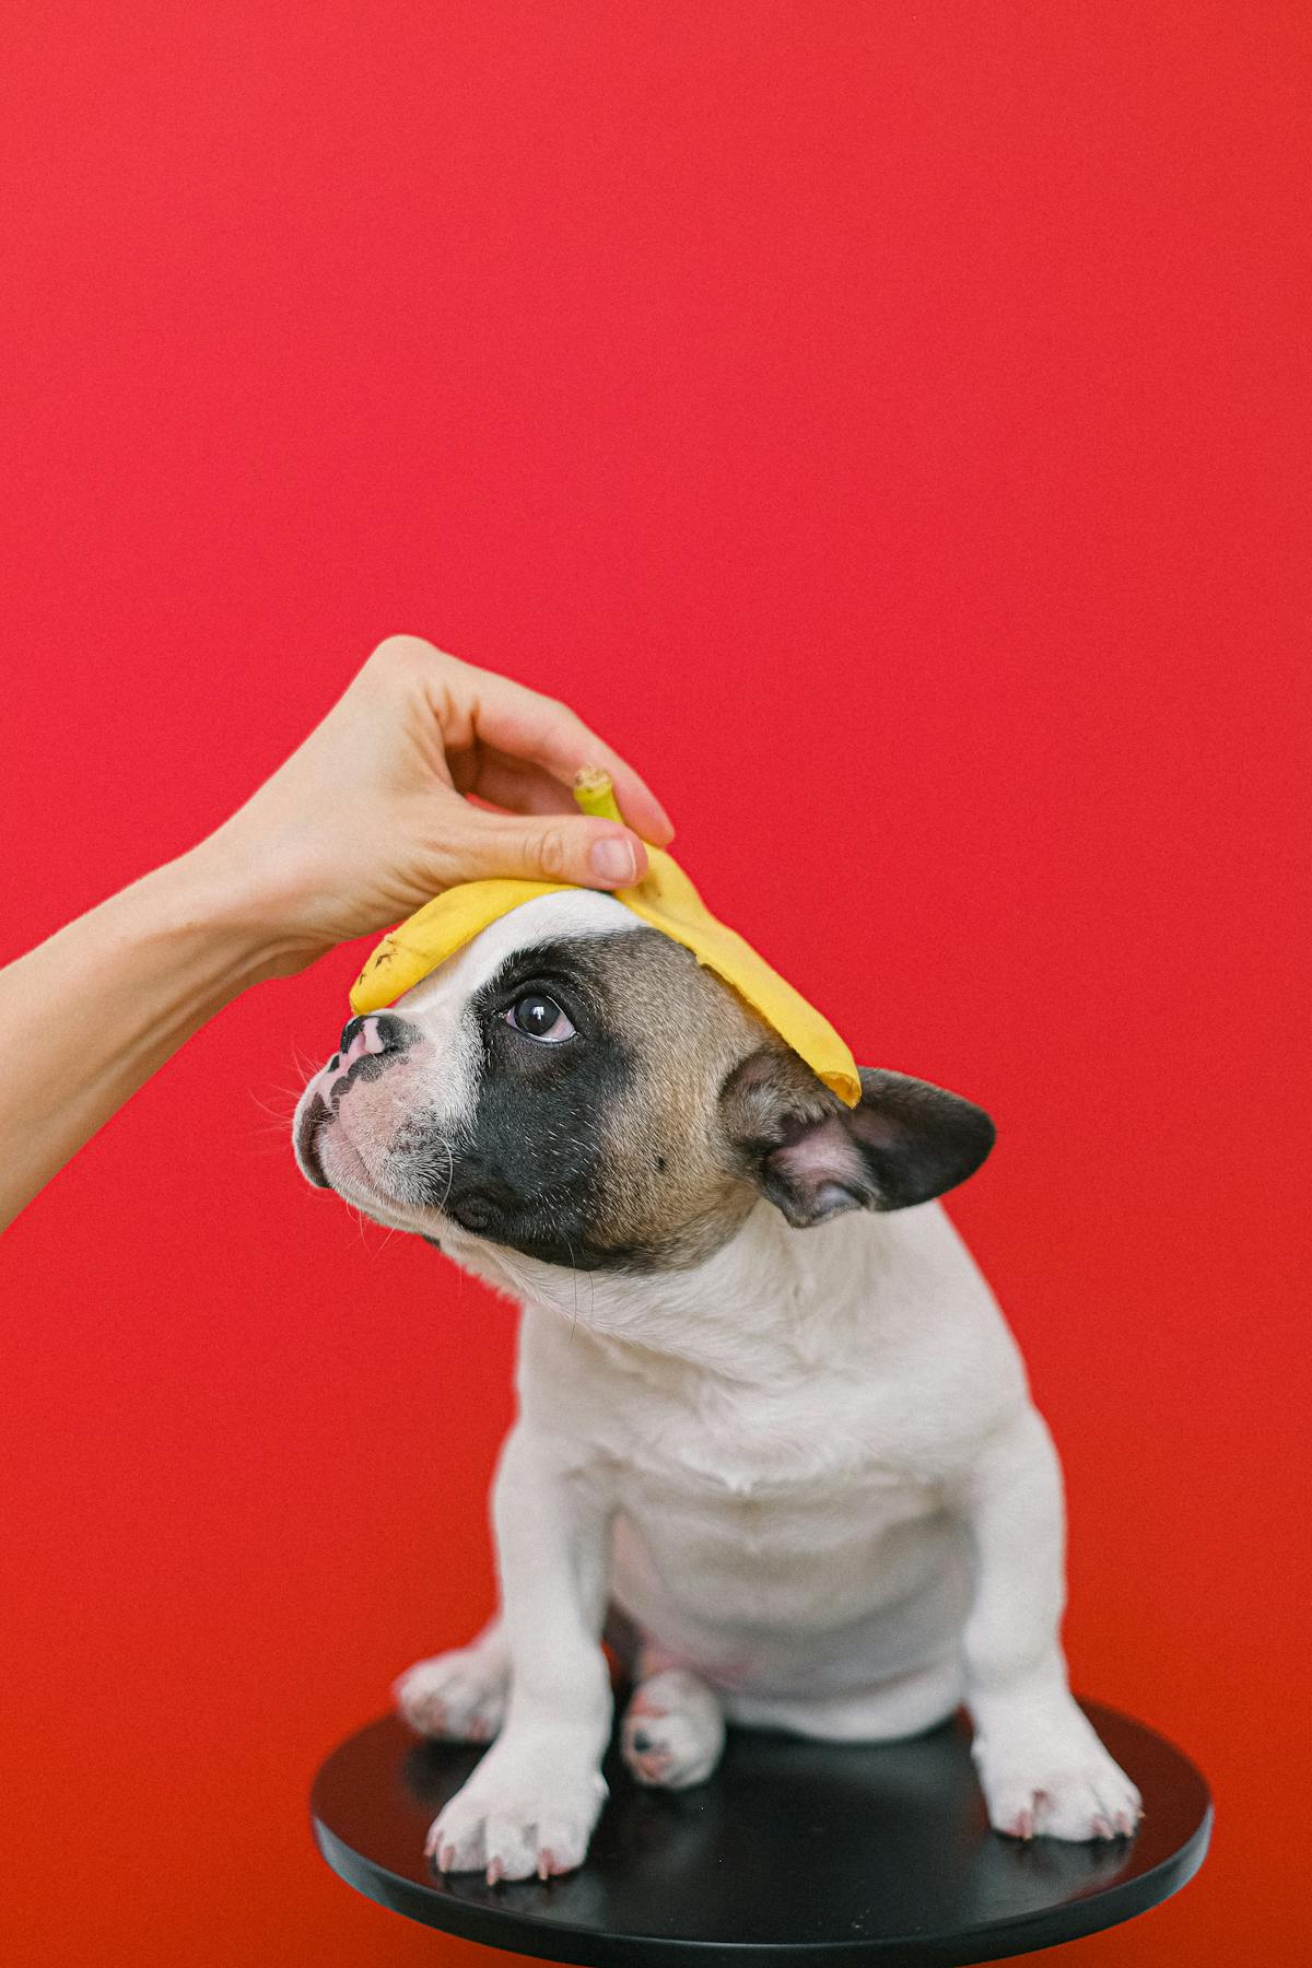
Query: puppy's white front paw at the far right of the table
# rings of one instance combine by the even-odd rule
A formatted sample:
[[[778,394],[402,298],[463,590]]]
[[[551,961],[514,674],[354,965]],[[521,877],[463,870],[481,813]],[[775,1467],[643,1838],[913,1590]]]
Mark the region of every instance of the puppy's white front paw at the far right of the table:
[[[1058,1726],[976,1738],[974,1757],[989,1824],[1009,1838],[1129,1838],[1143,1816],[1139,1791],[1074,1704]]]

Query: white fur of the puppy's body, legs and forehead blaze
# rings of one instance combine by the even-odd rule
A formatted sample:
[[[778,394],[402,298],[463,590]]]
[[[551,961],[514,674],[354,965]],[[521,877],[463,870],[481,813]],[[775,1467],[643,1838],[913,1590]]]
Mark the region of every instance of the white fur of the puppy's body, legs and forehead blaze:
[[[543,897],[401,1002],[452,1100],[478,982],[535,935],[616,917],[635,921],[610,897]],[[582,1862],[612,1726],[608,1596],[647,1635],[622,1734],[639,1781],[704,1777],[726,1718],[879,1740],[966,1700],[997,1830],[1133,1828],[1139,1793],[1068,1692],[1056,1454],[936,1202],[795,1230],[761,1200],[702,1263],[645,1275],[572,1275],[447,1222],[441,1240],[523,1303],[494,1484],[502,1614],[399,1683],[429,1734],[504,1716],[429,1834],[443,1870]]]

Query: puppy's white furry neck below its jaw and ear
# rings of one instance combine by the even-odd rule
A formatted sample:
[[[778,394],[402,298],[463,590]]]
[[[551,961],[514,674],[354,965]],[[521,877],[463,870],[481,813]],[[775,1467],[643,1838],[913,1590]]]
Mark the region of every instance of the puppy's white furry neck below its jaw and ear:
[[[679,1271],[570,1271],[492,1244],[452,1248],[464,1269],[523,1305],[568,1321],[606,1348],[673,1368],[769,1384],[842,1358],[842,1336],[869,1340],[891,1218],[850,1212],[795,1230],[759,1202],[710,1258]]]

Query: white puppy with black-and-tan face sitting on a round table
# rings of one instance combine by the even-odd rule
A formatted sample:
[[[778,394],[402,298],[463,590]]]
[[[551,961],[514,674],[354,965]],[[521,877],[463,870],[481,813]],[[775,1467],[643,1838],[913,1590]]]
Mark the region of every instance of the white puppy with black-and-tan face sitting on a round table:
[[[1139,1793],[1066,1681],[1060,1466],[932,1200],[993,1126],[895,1073],[862,1088],[844,1108],[586,890],[354,1017],[305,1088],[311,1183],[523,1303],[500,1616],[395,1687],[425,1736],[496,1736],[429,1832],[443,1872],[582,1862],[608,1612],[637,1637],[639,1783],[708,1777],[726,1720],[877,1742],[964,1700],[999,1832],[1133,1832]]]

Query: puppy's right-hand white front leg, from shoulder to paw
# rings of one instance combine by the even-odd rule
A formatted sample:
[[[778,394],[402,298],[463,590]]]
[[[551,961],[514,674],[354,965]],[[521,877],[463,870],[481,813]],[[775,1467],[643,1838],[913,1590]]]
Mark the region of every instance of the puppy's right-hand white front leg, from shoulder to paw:
[[[1139,1791],[1066,1681],[1062,1472],[1033,1407],[984,1450],[962,1502],[976,1547],[966,1700],[989,1822],[1013,1838],[1131,1832]]]

